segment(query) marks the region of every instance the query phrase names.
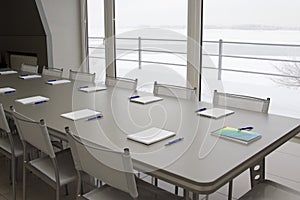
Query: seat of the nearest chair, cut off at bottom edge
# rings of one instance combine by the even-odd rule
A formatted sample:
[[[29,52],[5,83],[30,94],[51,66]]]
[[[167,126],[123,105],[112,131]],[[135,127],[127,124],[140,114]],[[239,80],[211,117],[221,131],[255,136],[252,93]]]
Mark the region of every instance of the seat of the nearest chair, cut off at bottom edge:
[[[140,200],[176,200],[183,199],[182,197],[176,196],[170,192],[163,189],[155,187],[154,185],[147,183],[141,179],[136,178],[137,188],[138,188],[138,199]],[[101,188],[97,188],[83,195],[82,199],[90,200],[132,200],[132,197],[121,190],[110,187],[109,185],[104,185]]]

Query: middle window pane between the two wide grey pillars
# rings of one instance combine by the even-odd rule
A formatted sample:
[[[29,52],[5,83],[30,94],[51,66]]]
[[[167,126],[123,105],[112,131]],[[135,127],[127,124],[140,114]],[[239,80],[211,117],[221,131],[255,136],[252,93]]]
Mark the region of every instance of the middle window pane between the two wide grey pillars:
[[[117,76],[185,86],[187,1],[116,0],[115,13]]]

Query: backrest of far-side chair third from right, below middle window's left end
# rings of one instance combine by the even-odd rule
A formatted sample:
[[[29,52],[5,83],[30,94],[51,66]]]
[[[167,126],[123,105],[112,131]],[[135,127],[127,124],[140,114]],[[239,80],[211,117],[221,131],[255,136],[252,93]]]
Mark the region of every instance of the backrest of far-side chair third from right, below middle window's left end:
[[[137,79],[106,76],[105,85],[130,90],[136,90]]]

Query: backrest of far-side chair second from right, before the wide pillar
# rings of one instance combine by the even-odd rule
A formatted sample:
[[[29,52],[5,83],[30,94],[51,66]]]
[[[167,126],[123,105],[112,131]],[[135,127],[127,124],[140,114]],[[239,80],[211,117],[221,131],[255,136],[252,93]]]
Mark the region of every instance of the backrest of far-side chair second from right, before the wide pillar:
[[[153,94],[176,97],[180,99],[195,100],[196,88],[187,88],[175,85],[158,84],[154,82]]]

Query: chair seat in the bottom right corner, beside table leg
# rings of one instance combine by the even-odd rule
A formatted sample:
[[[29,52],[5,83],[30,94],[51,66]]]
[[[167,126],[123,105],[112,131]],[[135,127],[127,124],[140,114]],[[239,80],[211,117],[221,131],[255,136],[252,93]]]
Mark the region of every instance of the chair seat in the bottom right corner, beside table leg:
[[[279,183],[265,180],[255,185],[239,200],[296,200],[300,199],[300,192]]]

